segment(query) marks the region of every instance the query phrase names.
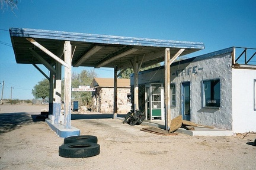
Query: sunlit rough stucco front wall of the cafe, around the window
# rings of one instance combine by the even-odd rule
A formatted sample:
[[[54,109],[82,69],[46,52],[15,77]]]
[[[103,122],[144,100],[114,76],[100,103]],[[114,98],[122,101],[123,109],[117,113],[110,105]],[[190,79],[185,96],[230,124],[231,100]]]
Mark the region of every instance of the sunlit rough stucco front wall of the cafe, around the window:
[[[220,129],[232,129],[232,58],[231,54],[209,57],[188,64],[192,74],[179,74],[174,78],[177,84],[177,96],[181,96],[180,82],[190,81],[191,122],[213,126]],[[195,73],[193,73],[193,70]],[[220,107],[203,107],[203,80],[220,80]],[[177,106],[181,106],[177,98]]]

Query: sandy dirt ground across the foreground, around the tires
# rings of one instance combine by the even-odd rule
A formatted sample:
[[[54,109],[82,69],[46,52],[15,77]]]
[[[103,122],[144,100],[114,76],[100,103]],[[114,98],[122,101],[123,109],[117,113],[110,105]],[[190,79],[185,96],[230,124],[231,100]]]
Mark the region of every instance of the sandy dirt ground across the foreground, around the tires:
[[[62,158],[63,138],[36,119],[47,105],[1,105],[0,109],[0,169],[256,169],[256,135],[251,133],[161,136],[111,115],[79,113],[72,114],[72,126],[81,135],[97,136],[100,154]]]

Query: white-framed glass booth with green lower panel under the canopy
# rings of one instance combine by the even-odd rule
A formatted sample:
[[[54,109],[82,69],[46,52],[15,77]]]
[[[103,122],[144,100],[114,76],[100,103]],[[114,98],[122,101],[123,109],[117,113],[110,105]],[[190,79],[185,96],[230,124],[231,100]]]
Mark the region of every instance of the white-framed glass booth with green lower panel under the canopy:
[[[148,120],[165,119],[162,83],[145,84],[145,112]]]

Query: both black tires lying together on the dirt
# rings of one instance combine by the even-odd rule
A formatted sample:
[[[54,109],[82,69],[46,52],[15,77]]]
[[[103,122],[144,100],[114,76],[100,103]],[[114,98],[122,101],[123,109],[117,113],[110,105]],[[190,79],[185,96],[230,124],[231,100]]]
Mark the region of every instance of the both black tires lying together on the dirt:
[[[87,158],[100,154],[98,138],[92,135],[69,136],[59,146],[59,156],[65,158]]]

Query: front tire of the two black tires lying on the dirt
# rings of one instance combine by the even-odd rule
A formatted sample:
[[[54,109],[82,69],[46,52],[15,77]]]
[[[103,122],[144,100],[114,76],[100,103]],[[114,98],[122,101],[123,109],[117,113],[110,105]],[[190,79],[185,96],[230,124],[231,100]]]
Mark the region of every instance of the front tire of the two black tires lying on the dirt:
[[[100,145],[92,142],[67,143],[59,146],[59,156],[65,158],[87,158],[100,154]]]

